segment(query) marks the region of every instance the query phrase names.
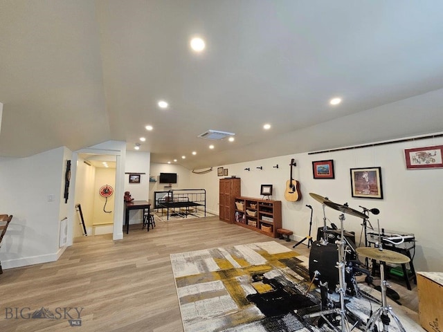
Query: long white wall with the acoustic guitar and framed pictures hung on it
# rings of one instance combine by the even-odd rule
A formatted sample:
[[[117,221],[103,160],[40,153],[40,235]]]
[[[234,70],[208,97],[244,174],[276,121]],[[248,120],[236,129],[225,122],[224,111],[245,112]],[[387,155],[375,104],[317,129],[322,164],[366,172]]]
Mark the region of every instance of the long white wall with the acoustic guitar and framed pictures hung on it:
[[[378,208],[378,216],[370,216],[370,223],[376,228],[377,219],[381,228],[397,230],[404,233],[414,233],[416,243],[414,265],[416,270],[443,271],[443,186],[440,178],[443,169],[414,169],[407,170],[404,149],[411,147],[426,147],[443,145],[443,138],[416,140],[380,145],[362,149],[329,152],[324,154],[294,154],[248,163],[221,165],[228,168],[229,174],[236,175],[242,181],[242,196],[260,197],[260,185],[272,184],[272,199],[282,201],[283,228],[293,230],[293,238],[300,240],[309,232],[311,211],[306,205],[314,208],[312,235],[323,226],[322,205],[309,196],[310,192],[327,196],[338,204],[348,203],[350,208],[361,211],[359,205],[366,208]],[[289,163],[296,159],[297,166],[293,168],[293,178],[300,183],[302,199],[298,202],[284,200],[286,181],[289,180]],[[312,161],[334,160],[334,179],[314,179]],[[279,168],[273,168],[277,165]],[[263,167],[263,170],[256,167]],[[249,167],[250,172],[244,169]],[[350,187],[350,168],[381,167],[383,199],[352,198]],[[203,186],[208,194],[208,210],[218,211],[219,177],[217,167],[208,174],[191,174],[193,186]],[[217,203],[215,203],[217,202]],[[327,225],[340,225],[339,214],[332,208],[325,208],[328,219]],[[345,215],[344,228],[356,232],[359,242],[362,220],[356,216]]]

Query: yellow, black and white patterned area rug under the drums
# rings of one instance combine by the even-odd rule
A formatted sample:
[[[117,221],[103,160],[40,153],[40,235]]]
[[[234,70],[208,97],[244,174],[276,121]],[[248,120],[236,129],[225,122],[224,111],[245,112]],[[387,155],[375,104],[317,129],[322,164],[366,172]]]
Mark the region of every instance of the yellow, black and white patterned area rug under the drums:
[[[303,317],[320,311],[320,293],[318,289],[307,292],[307,257],[280,243],[182,252],[170,259],[186,332],[341,331],[341,326],[319,324],[322,317]],[[359,324],[352,331],[365,331],[370,311],[380,304],[356,297],[346,302]],[[424,331],[408,317],[401,320],[408,320],[406,331]],[[352,324],[347,322],[350,328]],[[392,324],[389,331],[401,330]]]

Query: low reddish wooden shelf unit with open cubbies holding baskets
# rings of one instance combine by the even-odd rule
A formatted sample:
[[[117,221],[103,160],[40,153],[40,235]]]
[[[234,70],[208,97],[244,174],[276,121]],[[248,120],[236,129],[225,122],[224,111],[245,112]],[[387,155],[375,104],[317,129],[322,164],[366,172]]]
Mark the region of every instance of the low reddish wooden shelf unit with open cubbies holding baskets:
[[[251,197],[235,197],[235,222],[269,237],[279,237],[282,228],[282,202]]]

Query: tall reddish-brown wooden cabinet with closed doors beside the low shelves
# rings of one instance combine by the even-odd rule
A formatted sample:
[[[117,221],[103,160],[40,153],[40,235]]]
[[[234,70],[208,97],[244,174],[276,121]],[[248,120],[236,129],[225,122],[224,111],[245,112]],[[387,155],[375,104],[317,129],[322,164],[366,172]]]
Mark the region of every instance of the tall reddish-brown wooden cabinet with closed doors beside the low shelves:
[[[226,223],[235,220],[235,197],[239,196],[240,178],[221,178],[219,183],[219,218]]]

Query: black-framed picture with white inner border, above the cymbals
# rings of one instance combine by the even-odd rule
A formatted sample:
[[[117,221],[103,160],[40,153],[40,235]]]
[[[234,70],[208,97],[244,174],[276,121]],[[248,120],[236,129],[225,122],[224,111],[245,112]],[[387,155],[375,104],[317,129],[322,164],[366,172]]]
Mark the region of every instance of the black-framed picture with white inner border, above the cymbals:
[[[352,197],[383,199],[381,167],[351,168]]]

